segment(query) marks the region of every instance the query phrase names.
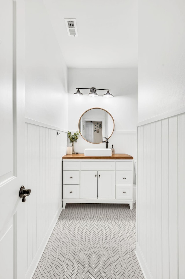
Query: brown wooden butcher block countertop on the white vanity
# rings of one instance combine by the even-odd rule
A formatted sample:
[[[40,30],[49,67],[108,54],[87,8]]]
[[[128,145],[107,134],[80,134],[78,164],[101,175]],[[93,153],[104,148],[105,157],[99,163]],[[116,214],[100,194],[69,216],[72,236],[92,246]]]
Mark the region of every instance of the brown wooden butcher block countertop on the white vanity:
[[[84,156],[84,153],[81,154],[72,154],[72,155],[64,155],[62,159],[108,159],[108,160],[132,160],[134,159],[132,156],[128,154],[112,154],[112,156]]]

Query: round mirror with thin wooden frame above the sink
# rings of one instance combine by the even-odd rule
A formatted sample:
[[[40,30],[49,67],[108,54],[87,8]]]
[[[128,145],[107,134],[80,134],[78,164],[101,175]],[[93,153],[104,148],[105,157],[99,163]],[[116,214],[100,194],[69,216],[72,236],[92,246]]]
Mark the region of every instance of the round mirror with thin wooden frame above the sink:
[[[114,131],[114,119],[103,108],[90,108],[79,119],[79,131],[84,140],[91,143],[101,143],[110,138]]]

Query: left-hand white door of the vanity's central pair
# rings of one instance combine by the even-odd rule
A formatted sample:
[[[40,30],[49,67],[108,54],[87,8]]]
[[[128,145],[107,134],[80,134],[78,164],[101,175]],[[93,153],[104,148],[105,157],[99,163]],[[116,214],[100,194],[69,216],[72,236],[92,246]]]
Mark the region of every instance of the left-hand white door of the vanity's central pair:
[[[80,198],[97,199],[98,196],[98,172],[80,172]]]

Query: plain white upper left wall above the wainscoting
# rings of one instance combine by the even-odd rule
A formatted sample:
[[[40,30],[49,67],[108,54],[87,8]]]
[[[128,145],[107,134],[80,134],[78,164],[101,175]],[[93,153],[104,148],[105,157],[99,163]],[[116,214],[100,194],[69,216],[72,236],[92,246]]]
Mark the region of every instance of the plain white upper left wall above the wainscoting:
[[[42,0],[26,0],[26,117],[67,130],[67,67]]]

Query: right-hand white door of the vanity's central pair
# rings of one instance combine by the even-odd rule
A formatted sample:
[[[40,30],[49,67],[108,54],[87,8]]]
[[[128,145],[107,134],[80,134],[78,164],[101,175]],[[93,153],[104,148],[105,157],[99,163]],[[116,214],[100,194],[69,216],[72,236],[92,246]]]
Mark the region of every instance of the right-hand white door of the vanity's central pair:
[[[114,171],[98,171],[98,199],[115,199]]]

